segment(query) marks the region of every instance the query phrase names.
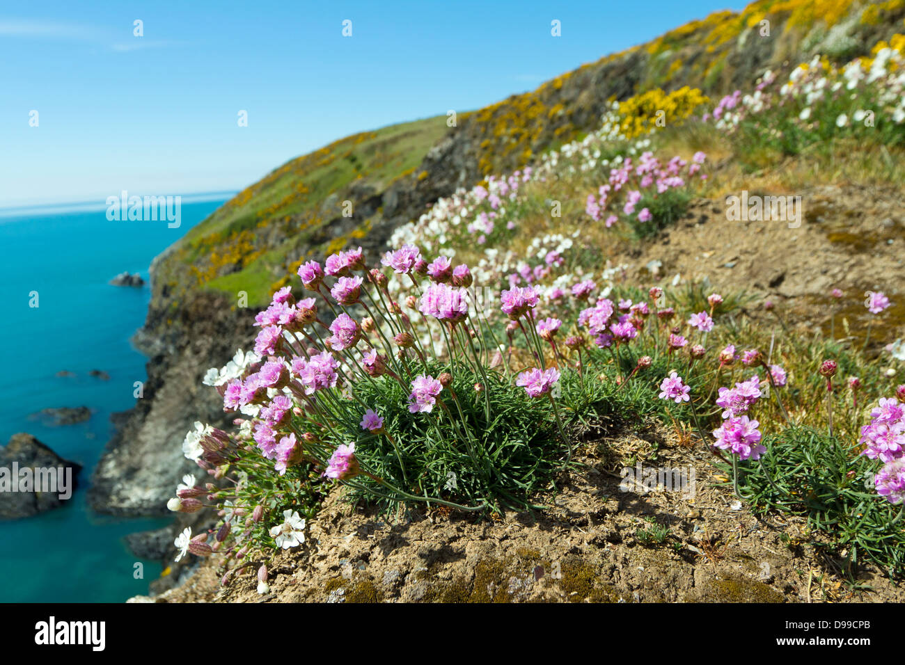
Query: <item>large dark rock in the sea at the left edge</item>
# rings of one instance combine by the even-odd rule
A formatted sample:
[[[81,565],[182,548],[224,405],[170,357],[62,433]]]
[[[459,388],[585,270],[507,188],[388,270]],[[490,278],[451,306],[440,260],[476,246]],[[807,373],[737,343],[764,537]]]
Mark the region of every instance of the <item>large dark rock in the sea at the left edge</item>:
[[[12,491],[12,488],[5,487],[3,475],[7,476],[9,481],[17,482],[15,475],[22,476],[22,470],[31,469],[33,478],[34,470],[68,470],[64,471],[60,480],[53,489],[59,491],[34,491],[41,489],[36,487],[38,483],[34,482],[32,490],[29,491]],[[75,489],[76,477],[79,475],[81,465],[74,461],[63,460],[50,448],[39,442],[31,434],[20,432],[13,434],[6,445],[0,448],[0,519],[17,519],[27,518],[36,515],[44,510],[59,508],[66,499],[61,499],[60,495],[69,493]],[[14,471],[17,473],[14,475]],[[44,474],[41,474],[44,475]],[[45,476],[46,477],[46,476]],[[16,485],[18,488],[19,486]],[[66,491],[64,492],[63,489]]]

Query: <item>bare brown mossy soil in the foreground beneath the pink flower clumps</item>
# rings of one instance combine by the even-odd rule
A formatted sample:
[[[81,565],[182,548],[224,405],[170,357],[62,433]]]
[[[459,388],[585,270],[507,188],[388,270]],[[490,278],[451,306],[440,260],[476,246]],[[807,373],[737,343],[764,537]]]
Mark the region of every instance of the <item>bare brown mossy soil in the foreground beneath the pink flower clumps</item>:
[[[634,428],[633,428],[634,429]],[[758,519],[700,446],[650,426],[592,442],[548,510],[491,522],[421,511],[388,520],[353,507],[342,489],[311,521],[303,546],[219,585],[219,562],[198,566],[157,602],[900,602],[880,571],[845,584],[841,561],[799,518]],[[684,470],[683,488],[646,491],[621,470],[656,450],[656,467]],[[652,462],[645,462],[650,468]],[[691,469],[694,470],[693,476]],[[639,477],[643,479],[643,476]],[[671,477],[672,478],[672,477]],[[693,489],[691,491],[691,479]],[[621,483],[623,486],[621,487]],[[657,529],[656,527],[660,527]],[[652,534],[656,533],[656,536]],[[148,601],[148,598],[137,598]]]

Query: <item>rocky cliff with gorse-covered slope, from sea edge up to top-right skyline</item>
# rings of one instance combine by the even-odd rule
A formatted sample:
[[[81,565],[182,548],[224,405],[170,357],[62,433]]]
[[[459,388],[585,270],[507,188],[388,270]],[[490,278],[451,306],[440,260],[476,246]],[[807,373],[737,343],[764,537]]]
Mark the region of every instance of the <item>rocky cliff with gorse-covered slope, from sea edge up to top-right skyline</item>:
[[[872,43],[895,33],[901,20],[898,15],[883,15],[879,24],[866,23],[862,8],[868,3],[843,1],[837,3],[841,7],[838,15],[827,24],[830,18],[824,21],[823,16],[812,15],[811,4],[784,3],[786,9],[774,13],[771,5],[775,3],[764,0],[741,14],[713,14],[651,43],[568,72],[538,90],[462,113],[454,127],[446,127],[444,116],[431,119],[443,128],[432,125],[433,134],[422,128],[418,136],[439,136],[433,147],[406,143],[414,129],[400,131],[392,140],[380,138],[377,132],[369,148],[376,150],[377,157],[405,157],[405,150],[421,151],[423,157],[415,162],[418,166],[400,173],[387,174],[384,169],[376,175],[359,170],[360,156],[354,145],[365,139],[356,135],[348,146],[343,141],[334,144],[338,146],[335,155],[323,148],[300,157],[237,195],[212,215],[211,225],[216,222],[222,227],[226,213],[242,213],[249,201],[273,195],[268,187],[276,182],[307,193],[303,196],[306,207],[299,208],[296,194],[281,200],[273,195],[276,203],[233,215],[231,225],[218,227],[217,233],[202,238],[205,242],[197,240],[198,234],[186,237],[154,261],[152,301],[145,327],[137,336],[139,347],[149,356],[148,382],[135,408],[118,418],[119,433],[92,478],[91,506],[113,514],[166,512],[167,498],[182,475],[197,471],[182,456],[185,433],[195,421],[224,426],[230,420],[218,394],[202,385],[201,379],[209,367],[223,366],[236,348],[251,347],[255,303],[243,309],[238,299],[243,271],[249,270],[245,261],[249,253],[266,258],[268,252],[279,250],[283,258],[259,259],[252,267],[257,267],[259,280],[294,286],[298,286],[296,281],[289,280],[294,272],[292,261],[322,260],[342,249],[339,245],[361,245],[373,260],[386,250],[397,226],[417,218],[439,197],[451,195],[457,187],[474,185],[488,174],[524,166],[544,150],[597,128],[611,100],[624,100],[658,86],[664,90],[700,87],[711,96],[737,87],[747,90],[765,69],[794,66],[815,52],[834,60],[869,52]],[[766,35],[763,21],[769,22]],[[315,157],[317,164],[309,164]],[[333,168],[337,173],[344,166],[354,168],[355,173],[344,185],[312,195],[305,185],[313,166]],[[293,204],[282,203],[289,201]],[[352,204],[351,216],[342,214],[346,202]],[[205,233],[208,222],[199,233]],[[205,252],[212,252],[212,247],[215,252],[221,237],[224,247],[233,242],[230,247],[243,248],[245,257],[240,252],[234,261],[224,261],[222,255],[211,261]],[[237,238],[244,244],[236,244]],[[197,276],[199,265],[207,271],[203,279]],[[240,278],[232,282],[238,288],[212,286],[218,278],[230,276]]]

